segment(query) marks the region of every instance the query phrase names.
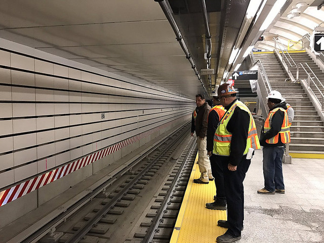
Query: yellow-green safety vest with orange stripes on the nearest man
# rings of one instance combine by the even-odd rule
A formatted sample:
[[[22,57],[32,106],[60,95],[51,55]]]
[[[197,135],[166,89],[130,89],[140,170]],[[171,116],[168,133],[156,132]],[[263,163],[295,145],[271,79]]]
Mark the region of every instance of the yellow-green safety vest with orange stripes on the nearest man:
[[[240,109],[247,111],[250,115],[247,146],[243,154],[247,154],[249,148],[254,148],[255,150],[260,149],[260,142],[257,134],[257,128],[255,126],[254,119],[252,117],[250,110],[242,102],[236,101],[222,117],[216,129],[214,135],[214,149],[213,149],[214,154],[223,155],[223,156],[229,156],[230,154],[232,134],[227,131],[226,126],[230,118],[232,117],[234,113],[234,109],[236,107],[239,107]],[[237,126],[239,126],[239,124]]]

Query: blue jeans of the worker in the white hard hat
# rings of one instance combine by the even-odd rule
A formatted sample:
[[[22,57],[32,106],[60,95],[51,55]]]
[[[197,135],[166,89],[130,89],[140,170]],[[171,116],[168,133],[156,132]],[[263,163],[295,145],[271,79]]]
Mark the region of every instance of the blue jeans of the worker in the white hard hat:
[[[263,147],[264,188],[268,191],[285,189],[281,163],[284,150],[284,147]]]

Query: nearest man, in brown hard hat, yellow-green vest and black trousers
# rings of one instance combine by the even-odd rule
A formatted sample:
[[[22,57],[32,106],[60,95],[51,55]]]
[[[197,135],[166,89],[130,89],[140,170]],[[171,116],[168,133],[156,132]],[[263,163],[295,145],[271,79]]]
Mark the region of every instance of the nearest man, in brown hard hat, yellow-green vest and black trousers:
[[[217,237],[217,242],[233,242],[241,238],[244,220],[243,181],[255,149],[260,148],[254,119],[249,108],[236,99],[229,84],[217,90],[226,113],[221,118],[214,136],[213,154],[223,166],[224,189],[227,201],[227,221],[218,225],[228,228]]]

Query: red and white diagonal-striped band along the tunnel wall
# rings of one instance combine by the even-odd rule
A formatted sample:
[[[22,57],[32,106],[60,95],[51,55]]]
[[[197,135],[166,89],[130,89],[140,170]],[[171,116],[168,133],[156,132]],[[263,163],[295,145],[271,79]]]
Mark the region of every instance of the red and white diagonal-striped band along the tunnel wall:
[[[47,172],[43,175],[34,177],[28,181],[22,182],[21,184],[15,185],[7,190],[1,191],[0,192],[0,207],[10,203],[11,201],[13,201],[23,195],[26,195],[27,193],[29,193],[31,191],[34,191],[42,186],[45,186],[53,181],[56,181],[57,179],[60,179],[63,176],[66,176],[80,168],[83,168],[91,163],[94,163],[94,161],[101,159],[104,156],[107,156],[121,148],[124,148],[124,147],[126,147],[126,146],[128,146],[142,138],[145,138],[148,135],[160,130],[161,128],[166,127],[169,124],[170,123],[153,128],[153,129],[148,130],[144,133],[138,134],[132,138],[129,138],[127,140],[124,140],[122,142],[114,144],[110,147],[104,148],[98,152],[92,153],[86,157],[75,160],[70,164],[67,164],[60,168],[57,168],[53,171]]]

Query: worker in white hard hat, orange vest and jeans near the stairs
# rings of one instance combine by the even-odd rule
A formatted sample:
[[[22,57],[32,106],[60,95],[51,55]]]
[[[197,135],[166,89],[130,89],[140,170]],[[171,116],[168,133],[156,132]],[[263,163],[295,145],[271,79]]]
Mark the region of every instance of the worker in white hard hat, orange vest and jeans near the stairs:
[[[269,114],[261,130],[260,144],[263,146],[264,188],[259,194],[285,193],[282,175],[282,156],[286,143],[290,142],[287,106],[278,91],[271,91],[267,96]]]

